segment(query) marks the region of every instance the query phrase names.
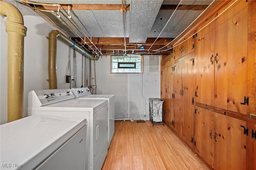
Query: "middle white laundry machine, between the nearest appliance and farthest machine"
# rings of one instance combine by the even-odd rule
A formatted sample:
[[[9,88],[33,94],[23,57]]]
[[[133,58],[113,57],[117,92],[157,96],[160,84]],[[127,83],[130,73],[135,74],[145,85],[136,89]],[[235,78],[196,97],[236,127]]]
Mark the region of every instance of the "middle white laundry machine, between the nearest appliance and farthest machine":
[[[86,169],[100,170],[108,153],[108,100],[74,99],[70,89],[28,93],[28,115],[84,118],[88,121]]]

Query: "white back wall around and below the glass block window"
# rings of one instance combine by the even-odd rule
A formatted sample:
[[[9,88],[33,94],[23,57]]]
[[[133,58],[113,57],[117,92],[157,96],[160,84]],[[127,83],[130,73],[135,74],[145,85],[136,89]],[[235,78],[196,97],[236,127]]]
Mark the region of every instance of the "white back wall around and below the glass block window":
[[[142,74],[142,95],[146,98],[146,120],[149,120],[148,98],[160,98],[160,71],[149,71],[149,58],[150,55],[144,55],[144,73]],[[115,95],[115,119],[144,120],[144,100],[140,96],[141,74],[110,74],[110,56],[95,61],[95,69],[96,94]]]

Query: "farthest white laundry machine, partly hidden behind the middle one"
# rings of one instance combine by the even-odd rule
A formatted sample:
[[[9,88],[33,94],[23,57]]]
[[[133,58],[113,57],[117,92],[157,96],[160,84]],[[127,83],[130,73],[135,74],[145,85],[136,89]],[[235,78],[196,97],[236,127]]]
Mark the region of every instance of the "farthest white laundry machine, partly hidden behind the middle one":
[[[115,96],[92,95],[88,87],[71,89],[78,99],[108,99],[108,148],[115,132]]]

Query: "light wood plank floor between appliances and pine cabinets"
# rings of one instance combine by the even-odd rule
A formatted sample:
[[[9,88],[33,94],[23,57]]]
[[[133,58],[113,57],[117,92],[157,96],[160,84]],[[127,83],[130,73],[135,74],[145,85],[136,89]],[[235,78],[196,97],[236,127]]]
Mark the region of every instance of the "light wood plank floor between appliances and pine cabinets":
[[[210,170],[167,126],[115,121],[102,170]]]

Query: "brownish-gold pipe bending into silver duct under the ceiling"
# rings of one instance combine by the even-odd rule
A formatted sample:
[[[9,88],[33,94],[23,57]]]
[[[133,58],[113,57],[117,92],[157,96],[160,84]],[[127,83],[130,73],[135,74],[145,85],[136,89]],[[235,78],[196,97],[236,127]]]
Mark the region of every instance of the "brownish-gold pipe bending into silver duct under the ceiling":
[[[64,36],[58,30],[52,30],[49,34],[49,37],[46,37],[49,40],[49,87],[50,89],[57,89],[57,62],[56,62],[56,49],[57,49],[57,38],[62,42],[68,44],[70,47],[73,47],[81,54],[85,55],[89,59],[98,60],[99,57],[93,57],[82,47],[76,45],[74,41],[70,40]]]

